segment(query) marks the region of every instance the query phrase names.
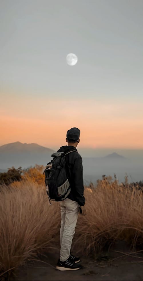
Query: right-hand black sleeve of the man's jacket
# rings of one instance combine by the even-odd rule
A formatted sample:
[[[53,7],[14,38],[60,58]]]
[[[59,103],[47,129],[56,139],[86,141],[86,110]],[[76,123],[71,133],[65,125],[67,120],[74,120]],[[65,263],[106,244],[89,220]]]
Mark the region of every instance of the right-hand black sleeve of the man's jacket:
[[[80,206],[84,206],[84,181],[83,181],[83,166],[82,157],[79,155],[73,164],[72,168],[72,186],[77,202]]]

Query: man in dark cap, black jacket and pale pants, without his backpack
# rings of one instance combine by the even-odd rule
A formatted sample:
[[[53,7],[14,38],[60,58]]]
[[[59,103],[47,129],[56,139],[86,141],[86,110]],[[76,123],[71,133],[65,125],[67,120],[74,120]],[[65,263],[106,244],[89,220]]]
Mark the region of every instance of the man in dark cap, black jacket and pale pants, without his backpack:
[[[82,157],[78,153],[76,147],[80,142],[80,130],[76,127],[67,131],[67,146],[61,146],[57,152],[68,153],[65,156],[65,170],[67,179],[70,184],[71,192],[63,200],[59,202],[61,209],[61,228],[60,228],[60,259],[57,262],[58,270],[78,270],[82,268],[78,262],[80,258],[76,258],[71,254],[72,239],[75,233],[75,227],[78,219],[79,207],[81,207],[81,215],[86,215],[84,207],[84,184],[83,184],[83,167]]]

